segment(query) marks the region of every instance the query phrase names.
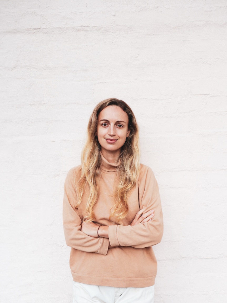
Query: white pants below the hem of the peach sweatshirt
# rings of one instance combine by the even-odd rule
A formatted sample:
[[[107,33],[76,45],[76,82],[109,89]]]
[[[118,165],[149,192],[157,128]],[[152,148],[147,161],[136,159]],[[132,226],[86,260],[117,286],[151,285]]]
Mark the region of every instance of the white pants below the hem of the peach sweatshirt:
[[[144,288],[88,285],[73,281],[73,303],[154,303],[154,285]]]

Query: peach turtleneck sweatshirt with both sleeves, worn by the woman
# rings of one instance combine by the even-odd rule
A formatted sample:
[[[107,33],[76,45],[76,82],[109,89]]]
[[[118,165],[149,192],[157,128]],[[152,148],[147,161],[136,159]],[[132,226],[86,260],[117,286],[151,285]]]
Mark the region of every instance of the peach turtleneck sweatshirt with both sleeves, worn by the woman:
[[[102,155],[101,155],[102,156]],[[102,156],[100,195],[95,205],[96,221],[108,225],[109,239],[93,238],[81,231],[88,195],[84,193],[78,209],[76,186],[81,165],[72,168],[64,185],[63,224],[66,244],[71,246],[70,268],[73,280],[85,284],[114,287],[147,287],[154,285],[157,262],[152,245],[161,241],[163,215],[158,184],[153,171],[141,164],[136,186],[128,199],[129,212],[118,225],[109,220],[113,207],[115,164]],[[154,209],[152,222],[130,226],[137,211]],[[109,248],[111,246],[117,246]]]

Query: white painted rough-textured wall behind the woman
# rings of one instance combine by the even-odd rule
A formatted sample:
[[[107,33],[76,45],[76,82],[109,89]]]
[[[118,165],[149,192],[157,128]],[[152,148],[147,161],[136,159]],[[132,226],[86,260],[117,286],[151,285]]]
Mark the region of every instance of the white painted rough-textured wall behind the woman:
[[[64,179],[94,105],[117,97],[160,185],[155,302],[226,302],[226,0],[1,0],[0,11],[0,301],[71,303]]]

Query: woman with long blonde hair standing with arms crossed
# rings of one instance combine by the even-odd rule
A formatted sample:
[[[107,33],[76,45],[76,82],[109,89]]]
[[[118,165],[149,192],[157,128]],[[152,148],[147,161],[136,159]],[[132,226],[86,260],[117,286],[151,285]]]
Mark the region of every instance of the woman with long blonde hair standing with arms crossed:
[[[151,303],[163,217],[152,170],[139,163],[131,108],[115,98],[90,116],[82,165],[64,186],[63,221],[71,246],[74,303]]]

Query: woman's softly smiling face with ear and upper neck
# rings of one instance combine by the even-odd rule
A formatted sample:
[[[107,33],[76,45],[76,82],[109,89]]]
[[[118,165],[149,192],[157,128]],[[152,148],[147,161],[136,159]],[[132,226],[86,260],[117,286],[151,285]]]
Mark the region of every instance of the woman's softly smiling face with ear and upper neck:
[[[98,115],[97,137],[102,154],[120,154],[128,129],[128,115],[117,105],[109,105]]]

